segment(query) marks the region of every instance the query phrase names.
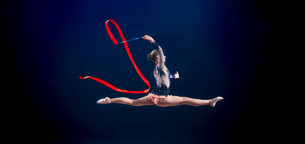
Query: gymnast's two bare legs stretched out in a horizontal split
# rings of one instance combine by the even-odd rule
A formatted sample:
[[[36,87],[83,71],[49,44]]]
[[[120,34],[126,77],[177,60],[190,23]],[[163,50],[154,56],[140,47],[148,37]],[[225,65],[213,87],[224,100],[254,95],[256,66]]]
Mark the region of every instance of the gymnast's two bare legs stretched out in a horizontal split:
[[[188,97],[178,97],[178,96],[168,96],[165,99],[156,99],[155,102],[152,101],[151,96],[147,95],[140,99],[129,99],[129,98],[114,98],[110,99],[106,97],[105,99],[99,100],[98,104],[109,104],[109,103],[119,103],[126,104],[131,106],[144,106],[144,105],[157,105],[160,107],[168,107],[168,106],[178,106],[178,105],[190,105],[190,106],[203,106],[209,105],[214,107],[216,102],[222,100],[222,97],[217,97],[211,100],[200,100],[200,99],[192,99]]]

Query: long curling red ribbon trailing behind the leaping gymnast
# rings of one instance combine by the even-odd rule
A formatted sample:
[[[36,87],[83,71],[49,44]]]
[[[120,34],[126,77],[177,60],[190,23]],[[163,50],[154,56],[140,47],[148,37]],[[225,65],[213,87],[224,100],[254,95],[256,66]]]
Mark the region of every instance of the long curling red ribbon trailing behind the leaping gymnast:
[[[118,41],[117,41],[116,38],[112,35],[112,33],[111,33],[110,29],[109,29],[108,22],[112,22],[112,23],[116,26],[116,28],[118,29],[118,31],[119,31],[119,33],[120,33],[120,36],[121,36],[121,38],[122,38],[122,41],[126,41],[126,40],[125,40],[125,37],[124,37],[124,35],[123,35],[123,32],[122,32],[121,28],[119,27],[118,23],[117,23],[116,21],[114,21],[113,19],[109,19],[109,20],[107,20],[107,21],[105,22],[105,26],[106,26],[106,30],[107,30],[108,35],[109,35],[109,37],[111,38],[111,40],[112,40],[116,45],[118,44]],[[95,78],[95,77],[91,77],[91,76],[86,76],[86,77],[84,77],[84,78],[82,78],[82,77],[80,76],[79,78],[81,78],[81,79],[91,78],[91,79],[93,79],[93,80],[96,80],[96,81],[98,81],[98,82],[100,82],[100,83],[106,85],[107,87],[109,87],[109,88],[111,88],[111,89],[113,89],[113,90],[115,90],[115,91],[119,91],[119,92],[122,92],[122,93],[133,93],[133,94],[147,93],[147,92],[151,89],[151,84],[150,84],[150,82],[143,76],[143,74],[141,73],[141,71],[140,71],[139,68],[137,67],[137,65],[136,65],[136,63],[135,63],[135,61],[134,61],[134,59],[133,59],[133,57],[132,57],[132,55],[131,55],[131,53],[130,53],[129,47],[128,47],[128,45],[127,45],[127,42],[123,42],[123,43],[124,43],[125,49],[126,49],[126,51],[127,51],[127,54],[128,54],[128,56],[129,56],[130,60],[132,61],[133,65],[135,66],[135,69],[137,70],[137,73],[138,73],[139,76],[142,78],[142,80],[149,86],[149,89],[144,90],[144,91],[127,91],[127,90],[119,89],[119,88],[117,88],[117,87],[115,87],[115,86],[109,84],[108,82],[99,79],[99,78]]]

